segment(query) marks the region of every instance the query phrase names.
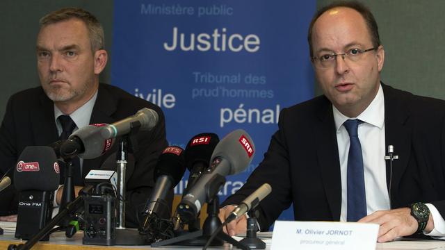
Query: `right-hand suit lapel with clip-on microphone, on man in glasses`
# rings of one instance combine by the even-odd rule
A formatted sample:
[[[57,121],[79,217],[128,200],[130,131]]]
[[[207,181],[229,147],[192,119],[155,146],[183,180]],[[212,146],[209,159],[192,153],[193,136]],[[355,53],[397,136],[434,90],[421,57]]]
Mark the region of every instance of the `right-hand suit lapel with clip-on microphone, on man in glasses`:
[[[397,206],[396,188],[398,187],[401,177],[410,158],[412,128],[407,124],[409,114],[403,99],[396,93],[393,88],[383,85],[383,94],[385,95],[385,150],[388,145],[394,146],[394,154],[398,156],[398,160],[393,161],[392,176],[389,160],[386,161],[387,168],[387,187],[391,183],[391,208]]]

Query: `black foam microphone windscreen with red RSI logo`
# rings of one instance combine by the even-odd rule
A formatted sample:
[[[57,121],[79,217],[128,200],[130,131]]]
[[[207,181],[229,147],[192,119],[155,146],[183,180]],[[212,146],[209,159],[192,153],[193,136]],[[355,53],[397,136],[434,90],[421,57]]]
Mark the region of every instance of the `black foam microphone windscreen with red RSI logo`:
[[[193,136],[188,142],[185,152],[187,169],[192,171],[196,163],[203,163],[208,168],[211,154],[219,141],[220,139],[215,133],[200,133]]]

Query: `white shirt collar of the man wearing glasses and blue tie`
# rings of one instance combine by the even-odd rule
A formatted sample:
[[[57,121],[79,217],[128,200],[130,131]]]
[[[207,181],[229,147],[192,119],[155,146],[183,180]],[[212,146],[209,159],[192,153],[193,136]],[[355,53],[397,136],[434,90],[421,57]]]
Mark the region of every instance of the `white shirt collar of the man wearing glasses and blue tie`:
[[[367,124],[371,124],[373,126],[377,126],[378,128],[383,128],[385,124],[385,99],[383,96],[382,85],[379,85],[378,92],[375,95],[373,101],[369,104],[369,106],[357,117],[347,117],[343,115],[334,105],[332,105],[332,111],[334,113],[334,122],[335,129],[337,133],[346,122],[347,119],[360,119]]]

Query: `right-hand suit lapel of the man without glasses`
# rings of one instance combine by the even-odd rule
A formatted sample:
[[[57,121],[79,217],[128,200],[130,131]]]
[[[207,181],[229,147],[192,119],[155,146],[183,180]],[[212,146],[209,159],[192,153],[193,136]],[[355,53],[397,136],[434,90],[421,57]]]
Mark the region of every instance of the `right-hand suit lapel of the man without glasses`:
[[[117,106],[117,101],[113,98],[110,92],[106,90],[102,83],[99,84],[95,106],[92,108],[90,124],[111,124],[115,122],[112,115],[115,113]],[[85,176],[91,169],[101,167],[102,161],[103,157],[83,160],[83,175]]]

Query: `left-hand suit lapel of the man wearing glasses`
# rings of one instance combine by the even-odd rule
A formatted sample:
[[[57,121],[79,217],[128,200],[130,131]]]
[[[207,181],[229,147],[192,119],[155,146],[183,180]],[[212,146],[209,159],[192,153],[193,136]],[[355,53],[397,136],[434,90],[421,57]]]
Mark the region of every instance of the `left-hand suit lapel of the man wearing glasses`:
[[[329,101],[325,101],[318,112],[319,121],[314,126],[314,135],[318,147],[317,157],[323,178],[327,203],[332,219],[340,219],[341,210],[341,174],[337,135],[335,134],[334,116]]]

